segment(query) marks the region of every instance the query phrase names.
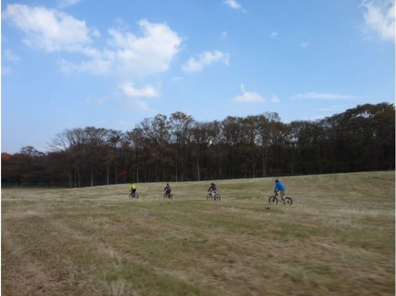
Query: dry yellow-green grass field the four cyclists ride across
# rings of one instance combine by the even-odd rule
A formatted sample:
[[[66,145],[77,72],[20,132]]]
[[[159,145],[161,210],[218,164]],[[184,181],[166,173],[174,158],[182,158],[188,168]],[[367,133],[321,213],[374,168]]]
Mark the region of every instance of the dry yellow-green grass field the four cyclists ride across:
[[[1,190],[2,295],[395,295],[395,171]]]

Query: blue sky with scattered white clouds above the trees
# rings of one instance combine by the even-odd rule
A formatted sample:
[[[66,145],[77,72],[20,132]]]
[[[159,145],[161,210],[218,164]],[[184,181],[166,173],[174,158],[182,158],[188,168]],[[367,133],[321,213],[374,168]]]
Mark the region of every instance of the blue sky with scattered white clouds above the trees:
[[[394,0],[2,0],[1,152],[132,130],[395,103]]]

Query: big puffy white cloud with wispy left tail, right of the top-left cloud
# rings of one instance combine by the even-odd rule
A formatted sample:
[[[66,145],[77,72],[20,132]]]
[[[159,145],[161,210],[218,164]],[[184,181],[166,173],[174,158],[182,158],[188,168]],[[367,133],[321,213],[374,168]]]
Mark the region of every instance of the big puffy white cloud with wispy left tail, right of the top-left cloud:
[[[181,38],[164,23],[141,20],[138,24],[143,37],[110,29],[109,49],[85,48],[81,52],[92,57],[91,60],[80,64],[62,61],[61,71],[96,75],[116,73],[128,80],[166,71],[180,50]]]

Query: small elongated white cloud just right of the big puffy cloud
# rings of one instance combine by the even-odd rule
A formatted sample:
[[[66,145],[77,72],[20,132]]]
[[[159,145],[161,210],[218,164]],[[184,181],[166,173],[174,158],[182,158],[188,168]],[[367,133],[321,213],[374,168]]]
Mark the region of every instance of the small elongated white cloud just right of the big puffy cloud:
[[[225,65],[229,65],[230,55],[218,50],[215,51],[204,51],[195,57],[190,59],[183,64],[182,69],[187,73],[201,71],[204,66],[207,66],[214,62],[223,62]]]

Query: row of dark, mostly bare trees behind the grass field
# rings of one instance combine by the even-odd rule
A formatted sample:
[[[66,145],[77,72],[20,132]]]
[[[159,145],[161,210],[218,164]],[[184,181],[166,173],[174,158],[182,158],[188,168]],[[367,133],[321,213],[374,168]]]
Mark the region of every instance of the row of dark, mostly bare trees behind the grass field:
[[[357,105],[316,121],[275,112],[200,122],[183,112],[132,130],[66,129],[48,152],[1,153],[1,184],[84,187],[395,169],[395,106]]]

